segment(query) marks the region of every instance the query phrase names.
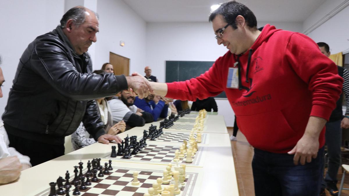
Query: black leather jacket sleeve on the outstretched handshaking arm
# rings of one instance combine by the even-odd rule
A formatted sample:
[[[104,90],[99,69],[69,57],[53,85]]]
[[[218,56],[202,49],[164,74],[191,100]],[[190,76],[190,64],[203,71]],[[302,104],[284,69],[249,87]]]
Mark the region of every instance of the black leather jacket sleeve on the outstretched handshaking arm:
[[[127,89],[124,75],[89,73],[92,70],[89,55],[86,53],[86,60],[89,61],[87,67],[81,67],[81,58],[72,54],[59,39],[44,37],[38,40],[31,56],[32,70],[70,99],[94,100]]]

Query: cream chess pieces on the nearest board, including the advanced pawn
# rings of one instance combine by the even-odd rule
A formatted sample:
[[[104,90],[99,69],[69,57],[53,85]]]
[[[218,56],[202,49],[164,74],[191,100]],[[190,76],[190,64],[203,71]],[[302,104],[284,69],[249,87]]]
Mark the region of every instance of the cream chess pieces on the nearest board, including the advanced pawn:
[[[174,196],[180,194],[181,188],[185,185],[186,173],[185,165],[173,166],[169,163],[163,172],[162,178],[157,178],[153,183],[153,187],[148,188],[148,193],[143,196]],[[133,172],[133,186],[139,186],[138,172]],[[162,187],[162,184],[169,186]]]

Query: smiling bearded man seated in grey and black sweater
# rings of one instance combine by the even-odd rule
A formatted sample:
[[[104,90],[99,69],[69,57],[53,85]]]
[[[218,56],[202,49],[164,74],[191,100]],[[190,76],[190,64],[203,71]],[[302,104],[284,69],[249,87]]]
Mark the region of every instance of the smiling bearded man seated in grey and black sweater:
[[[123,90],[108,101],[113,122],[124,121],[126,130],[132,127],[142,127],[145,123],[153,122],[154,119],[149,112],[144,112],[133,105],[134,99],[135,97],[129,91]]]

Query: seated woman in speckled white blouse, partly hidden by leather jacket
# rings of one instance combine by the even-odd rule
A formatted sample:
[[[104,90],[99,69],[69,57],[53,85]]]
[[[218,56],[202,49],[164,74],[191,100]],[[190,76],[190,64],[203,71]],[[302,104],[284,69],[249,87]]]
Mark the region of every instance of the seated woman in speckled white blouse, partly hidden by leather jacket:
[[[95,70],[95,74],[103,74],[103,70]],[[113,123],[113,119],[110,113],[110,108],[107,104],[106,98],[101,98],[95,100],[97,102],[97,107],[99,109],[99,117],[101,118],[104,124],[104,130],[106,134],[117,135],[120,131],[124,132],[126,124],[124,121],[120,121],[116,124]],[[80,123],[80,126],[72,134],[72,144],[75,150],[83,148],[85,146],[96,143],[95,139],[87,132],[83,123]]]

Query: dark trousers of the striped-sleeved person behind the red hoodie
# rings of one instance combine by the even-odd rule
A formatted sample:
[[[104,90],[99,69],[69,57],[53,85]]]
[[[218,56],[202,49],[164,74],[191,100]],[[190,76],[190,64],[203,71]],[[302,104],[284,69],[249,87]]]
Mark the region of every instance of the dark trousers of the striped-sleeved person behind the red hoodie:
[[[337,173],[341,165],[341,120],[326,123],[325,137],[328,153],[328,170],[325,179],[322,180],[322,188],[326,188],[327,182],[337,183],[338,181]]]

